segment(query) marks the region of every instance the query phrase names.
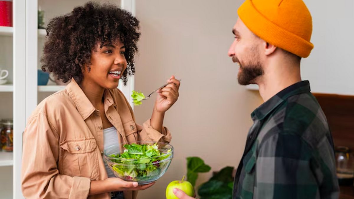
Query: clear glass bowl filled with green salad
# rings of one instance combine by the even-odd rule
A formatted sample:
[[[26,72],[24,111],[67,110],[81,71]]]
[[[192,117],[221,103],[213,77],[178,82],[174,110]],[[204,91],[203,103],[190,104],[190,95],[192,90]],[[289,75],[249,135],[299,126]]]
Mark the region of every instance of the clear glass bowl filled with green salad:
[[[165,174],[173,158],[173,147],[164,142],[116,144],[104,150],[104,160],[116,177],[148,184]]]

